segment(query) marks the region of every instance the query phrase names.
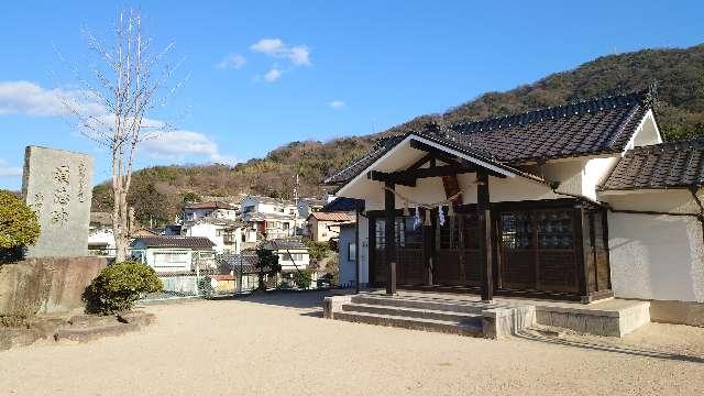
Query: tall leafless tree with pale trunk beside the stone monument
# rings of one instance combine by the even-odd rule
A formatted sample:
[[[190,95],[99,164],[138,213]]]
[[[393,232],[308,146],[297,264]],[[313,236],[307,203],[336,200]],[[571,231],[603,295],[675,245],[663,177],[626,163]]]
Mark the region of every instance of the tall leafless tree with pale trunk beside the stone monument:
[[[89,66],[88,78],[76,73],[82,98],[67,97],[64,105],[78,120],[78,130],[111,154],[112,230],[117,261],[121,262],[127,258],[130,238],[128,194],[138,147],[141,142],[170,129],[169,124],[147,116],[165,106],[183,81],[167,86],[178,66],[166,61],[174,44],[154,51],[152,40],[142,34],[139,11],[120,12],[110,42],[88,31],[86,37],[98,63]]]

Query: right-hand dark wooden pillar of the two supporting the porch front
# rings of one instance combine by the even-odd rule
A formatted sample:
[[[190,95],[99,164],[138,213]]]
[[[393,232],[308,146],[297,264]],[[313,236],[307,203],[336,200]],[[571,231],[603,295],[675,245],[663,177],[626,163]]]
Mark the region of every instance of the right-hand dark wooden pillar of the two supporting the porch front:
[[[493,248],[492,248],[492,211],[488,195],[488,174],[485,170],[476,173],[476,211],[479,222],[480,246],[480,275],[482,286],[482,300],[491,301],[494,298],[493,282]]]

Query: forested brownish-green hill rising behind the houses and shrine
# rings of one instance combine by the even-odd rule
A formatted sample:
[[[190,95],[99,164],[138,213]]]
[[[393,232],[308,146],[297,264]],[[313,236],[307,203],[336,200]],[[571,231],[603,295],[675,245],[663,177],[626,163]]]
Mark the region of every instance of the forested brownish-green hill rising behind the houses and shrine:
[[[517,63],[518,59],[516,59]],[[704,135],[704,44],[685,50],[645,50],[600,57],[504,92],[487,92],[442,114],[426,114],[372,136],[293,142],[234,167],[160,166],[138,172],[132,201],[142,220],[170,221],[187,193],[233,196],[253,193],[289,198],[319,195],[319,180],[361,155],[378,135],[404,133],[430,120],[443,123],[505,116],[570,101],[635,91],[657,84],[656,113],[668,140]],[[94,210],[110,206],[107,185],[96,187]]]

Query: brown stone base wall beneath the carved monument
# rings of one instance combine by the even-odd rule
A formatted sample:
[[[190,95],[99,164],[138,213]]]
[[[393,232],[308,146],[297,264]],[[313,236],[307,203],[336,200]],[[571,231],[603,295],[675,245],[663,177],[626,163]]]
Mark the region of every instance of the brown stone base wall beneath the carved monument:
[[[82,307],[105,257],[43,257],[0,264],[0,316],[66,312]]]

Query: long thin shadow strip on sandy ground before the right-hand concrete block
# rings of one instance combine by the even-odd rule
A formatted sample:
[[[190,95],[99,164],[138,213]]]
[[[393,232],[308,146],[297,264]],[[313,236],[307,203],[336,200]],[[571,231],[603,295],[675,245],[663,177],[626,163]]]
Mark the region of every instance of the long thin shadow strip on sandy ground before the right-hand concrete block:
[[[516,334],[516,337],[527,341],[544,342],[544,343],[551,343],[556,345],[587,349],[593,351],[613,352],[613,353],[628,354],[634,356],[664,359],[664,360],[681,361],[681,362],[704,363],[704,358],[700,358],[700,356],[690,356],[690,355],[682,355],[682,354],[675,354],[675,353],[659,352],[659,351],[652,351],[647,349],[634,348],[630,345],[615,345],[615,344],[598,343],[598,342],[565,340],[559,337],[542,336],[542,334],[534,333],[529,331]]]

